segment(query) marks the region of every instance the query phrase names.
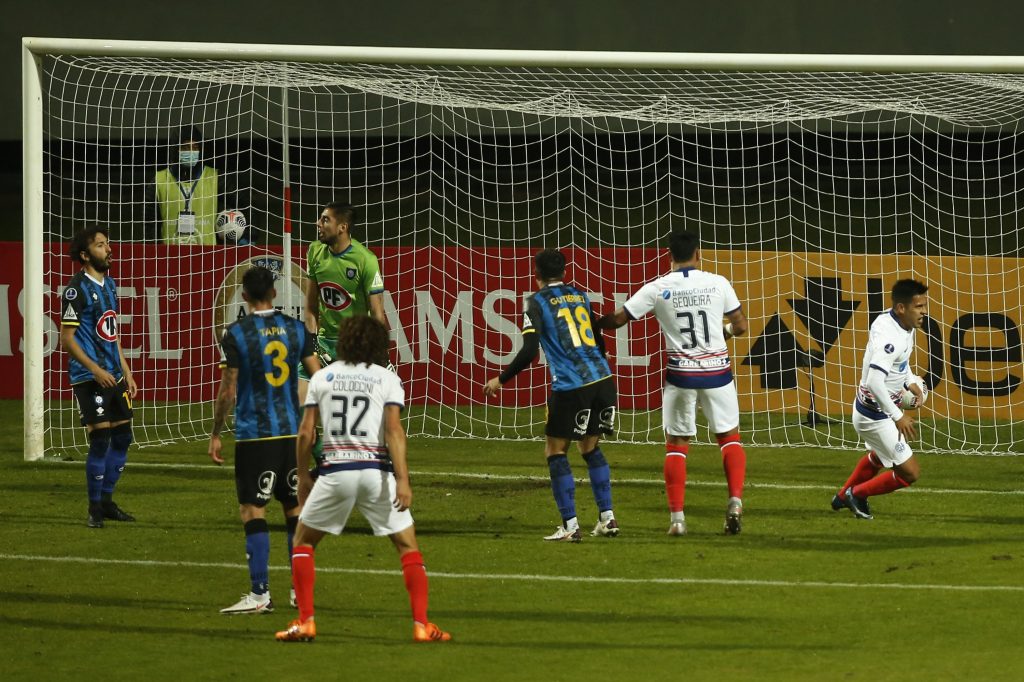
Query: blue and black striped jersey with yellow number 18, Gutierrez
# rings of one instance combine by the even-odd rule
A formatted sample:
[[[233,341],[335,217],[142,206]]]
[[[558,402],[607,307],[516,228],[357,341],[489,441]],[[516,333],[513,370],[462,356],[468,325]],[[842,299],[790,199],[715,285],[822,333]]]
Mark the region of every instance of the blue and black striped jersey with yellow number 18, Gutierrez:
[[[587,295],[561,282],[546,285],[526,300],[522,333],[540,335],[551,390],[569,391],[611,376],[591,317]]]

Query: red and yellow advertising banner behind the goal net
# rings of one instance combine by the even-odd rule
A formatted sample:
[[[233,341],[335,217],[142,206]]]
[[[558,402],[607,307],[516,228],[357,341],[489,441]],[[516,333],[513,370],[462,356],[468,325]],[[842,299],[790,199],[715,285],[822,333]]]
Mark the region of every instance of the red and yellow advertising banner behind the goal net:
[[[58,301],[77,270],[60,244],[47,245],[43,287],[46,385],[71,397],[58,349]],[[377,250],[387,292],[392,356],[417,403],[483,402],[482,384],[518,350],[523,301],[536,290],[534,250],[394,247]],[[591,295],[598,313],[622,304],[668,270],[664,250],[566,249],[566,279]],[[22,244],[0,249],[0,397],[23,392]],[[281,270],[263,247],[116,244],[111,275],[120,295],[121,343],[143,400],[210,400],[219,381],[220,331],[245,314],[241,275],[253,263]],[[291,282],[279,281],[279,306],[301,312],[304,249],[292,254]],[[899,278],[929,287],[929,316],[914,369],[933,389],[930,407],[954,419],[1024,414],[1024,260],[983,257],[703,251],[703,269],[728,278],[750,321],[730,341],[744,411],[806,409],[799,397],[813,377],[816,410],[849,410],[860,379],[870,321],[889,307]],[[606,333],[621,409],[660,404],[663,341],[652,317]],[[542,404],[542,363],[510,384],[495,404]],[[55,393],[54,393],[55,391]],[[801,408],[804,404],[804,408]]]

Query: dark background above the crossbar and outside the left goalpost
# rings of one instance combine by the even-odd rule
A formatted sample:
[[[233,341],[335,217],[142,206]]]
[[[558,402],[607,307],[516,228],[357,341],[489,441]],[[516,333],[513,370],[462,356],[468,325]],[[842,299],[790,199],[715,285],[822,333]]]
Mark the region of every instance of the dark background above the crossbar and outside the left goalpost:
[[[20,12],[18,15],[16,12]],[[0,237],[20,235],[23,36],[319,45],[673,52],[1015,54],[1024,6],[912,0],[820,3],[443,3],[398,0],[141,2],[37,0],[0,27]],[[783,245],[779,245],[783,246]]]

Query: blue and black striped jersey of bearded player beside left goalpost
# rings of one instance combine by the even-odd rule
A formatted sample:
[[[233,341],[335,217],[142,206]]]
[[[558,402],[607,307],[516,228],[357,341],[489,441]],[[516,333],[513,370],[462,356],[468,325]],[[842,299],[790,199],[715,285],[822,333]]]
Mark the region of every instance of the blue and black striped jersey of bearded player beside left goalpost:
[[[121,381],[118,352],[118,290],[114,278],[93,280],[85,270],[71,279],[60,296],[60,324],[77,327],[75,341],[96,365]],[[68,364],[72,384],[94,379],[74,357]]]

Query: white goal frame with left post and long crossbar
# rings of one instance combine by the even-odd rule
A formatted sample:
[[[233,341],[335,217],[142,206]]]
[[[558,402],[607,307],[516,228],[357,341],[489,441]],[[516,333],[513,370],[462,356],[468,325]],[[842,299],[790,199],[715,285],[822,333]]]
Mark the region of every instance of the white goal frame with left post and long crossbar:
[[[466,65],[489,67],[552,67],[773,72],[874,73],[1024,73],[1024,56],[853,55],[853,54],[729,54],[669,52],[584,52],[557,50],[429,49],[328,47],[267,44],[224,44],[124,40],[24,38],[23,169],[24,169],[24,296],[25,296],[25,459],[39,460],[44,451],[43,278],[44,164],[42,57],[153,56],[299,62],[370,62]],[[287,98],[287,90],[283,91]],[[287,111],[288,106],[284,108]],[[287,135],[287,121],[283,122]],[[288,145],[285,144],[287,155]],[[287,158],[286,197],[287,203]],[[286,209],[287,211],[287,209]],[[288,240],[289,236],[286,235]],[[289,253],[286,250],[285,253]],[[285,259],[286,264],[289,259]],[[287,266],[287,265],[286,265]],[[286,276],[287,273],[286,273]]]

